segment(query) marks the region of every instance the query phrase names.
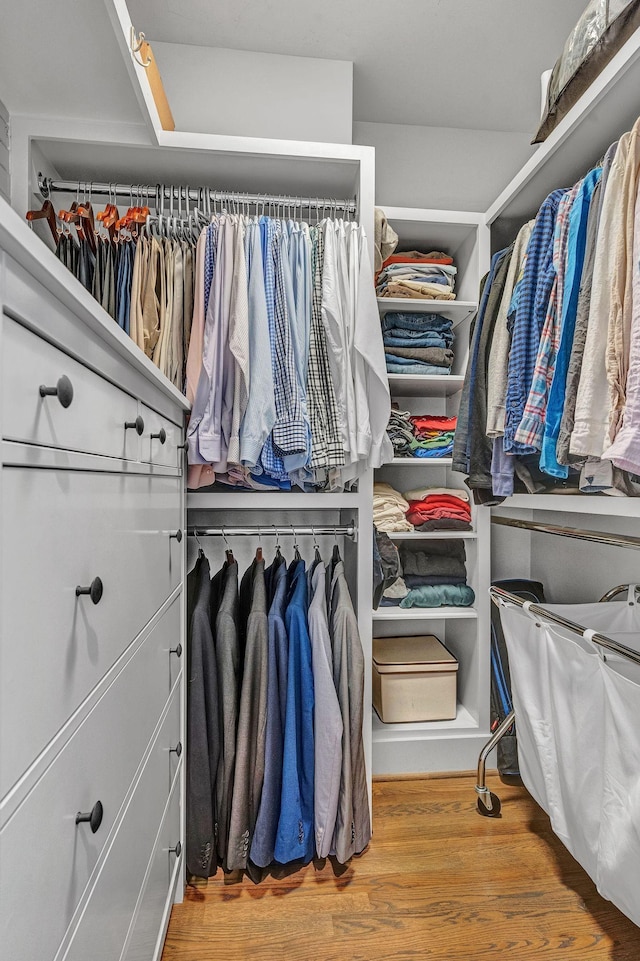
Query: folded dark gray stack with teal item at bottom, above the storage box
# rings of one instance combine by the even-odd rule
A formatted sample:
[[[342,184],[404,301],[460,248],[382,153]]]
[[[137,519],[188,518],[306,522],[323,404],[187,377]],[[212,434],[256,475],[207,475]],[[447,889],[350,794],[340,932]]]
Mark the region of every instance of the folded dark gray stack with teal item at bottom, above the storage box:
[[[425,550],[400,547],[402,576],[386,588],[383,607],[470,607],[464,541],[434,540]]]

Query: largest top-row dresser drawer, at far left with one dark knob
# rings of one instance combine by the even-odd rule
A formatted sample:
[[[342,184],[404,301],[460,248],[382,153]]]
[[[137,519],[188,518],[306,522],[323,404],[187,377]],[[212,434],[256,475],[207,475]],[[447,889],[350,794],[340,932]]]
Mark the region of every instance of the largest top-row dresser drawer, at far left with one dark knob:
[[[41,387],[58,395],[42,397]],[[5,440],[138,460],[140,437],[124,426],[137,416],[135,397],[3,314]]]

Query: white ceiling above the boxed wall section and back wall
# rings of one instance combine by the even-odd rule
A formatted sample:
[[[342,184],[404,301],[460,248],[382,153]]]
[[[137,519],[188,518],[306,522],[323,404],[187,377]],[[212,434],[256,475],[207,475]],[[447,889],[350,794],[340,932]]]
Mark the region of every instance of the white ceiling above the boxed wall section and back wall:
[[[540,112],[540,74],[553,66],[585,6],[128,0],[137,29],[151,40],[353,61],[354,120],[528,134]]]

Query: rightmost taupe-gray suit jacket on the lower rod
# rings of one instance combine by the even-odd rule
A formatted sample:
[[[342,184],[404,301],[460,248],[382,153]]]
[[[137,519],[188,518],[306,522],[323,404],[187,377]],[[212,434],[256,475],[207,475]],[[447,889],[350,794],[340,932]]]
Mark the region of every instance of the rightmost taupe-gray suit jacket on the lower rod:
[[[344,725],[340,796],[333,841],[336,857],[344,864],[369,843],[371,817],[362,740],[364,654],[343,561],[338,561],[333,568],[329,629],[333,679]]]

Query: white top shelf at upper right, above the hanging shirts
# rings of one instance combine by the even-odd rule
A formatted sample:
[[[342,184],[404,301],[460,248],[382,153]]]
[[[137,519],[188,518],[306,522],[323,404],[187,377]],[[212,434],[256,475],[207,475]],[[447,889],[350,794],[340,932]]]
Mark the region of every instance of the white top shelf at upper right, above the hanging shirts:
[[[512,235],[557,187],[570,187],[640,113],[640,31],[630,37],[487,211]]]

